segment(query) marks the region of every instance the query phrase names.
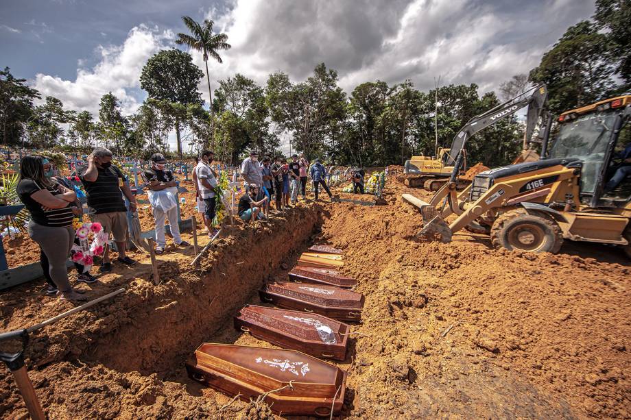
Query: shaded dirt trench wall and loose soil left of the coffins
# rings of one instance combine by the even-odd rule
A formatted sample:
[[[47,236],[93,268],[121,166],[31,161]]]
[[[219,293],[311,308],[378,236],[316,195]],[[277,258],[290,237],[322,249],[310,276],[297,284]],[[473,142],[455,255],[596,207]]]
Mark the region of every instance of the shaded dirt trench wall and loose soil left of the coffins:
[[[203,399],[193,401],[200,400],[194,398],[199,387],[190,395],[181,384],[187,382],[184,360],[231,323],[283,263],[297,258],[321,216],[317,209],[296,208],[254,228],[227,227],[222,234],[227,237],[202,259],[201,271],[191,270],[190,258],[163,261],[160,286],[153,286],[145,271],[126,285],[125,279],[108,283],[112,290],[128,291],[34,334],[27,366],[36,368],[29,375],[49,417],[137,418],[149,415],[142,407],[151,405],[157,411],[150,417],[159,418],[160,396],[167,394],[177,396],[165,402],[164,415],[198,417],[215,410],[213,404],[204,408]],[[163,382],[167,376],[180,384]],[[0,418],[21,418],[25,407],[7,369],[0,369],[0,390]]]

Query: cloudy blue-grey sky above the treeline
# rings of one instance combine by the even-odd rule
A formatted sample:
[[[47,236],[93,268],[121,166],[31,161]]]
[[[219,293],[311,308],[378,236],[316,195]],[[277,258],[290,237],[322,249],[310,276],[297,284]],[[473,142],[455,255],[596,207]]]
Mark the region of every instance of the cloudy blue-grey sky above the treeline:
[[[429,90],[439,76],[487,92],[593,11],[593,0],[0,0],[0,66],[69,109],[97,115],[111,91],[131,114],[146,97],[143,65],[178,47],[187,15],[215,21],[232,45],[223,64],[209,61],[213,89],[235,73],[300,82],[324,62],[348,93],[377,79]],[[207,101],[205,77],[199,89]]]

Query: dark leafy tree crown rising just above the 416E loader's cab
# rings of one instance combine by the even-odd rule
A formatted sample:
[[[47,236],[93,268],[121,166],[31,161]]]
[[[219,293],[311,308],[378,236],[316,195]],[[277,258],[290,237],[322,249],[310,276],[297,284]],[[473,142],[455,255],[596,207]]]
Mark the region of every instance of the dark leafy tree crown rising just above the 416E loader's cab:
[[[549,108],[558,114],[606,96],[615,85],[613,72],[608,37],[582,21],[567,29],[529,77],[547,84]]]

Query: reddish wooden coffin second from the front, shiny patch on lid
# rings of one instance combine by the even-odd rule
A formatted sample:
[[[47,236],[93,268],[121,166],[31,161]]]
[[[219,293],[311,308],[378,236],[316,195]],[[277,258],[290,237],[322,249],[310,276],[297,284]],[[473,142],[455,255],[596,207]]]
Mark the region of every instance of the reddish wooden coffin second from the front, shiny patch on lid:
[[[254,305],[241,309],[235,328],[278,347],[337,360],[346,358],[350,332],[349,325],[322,315]]]

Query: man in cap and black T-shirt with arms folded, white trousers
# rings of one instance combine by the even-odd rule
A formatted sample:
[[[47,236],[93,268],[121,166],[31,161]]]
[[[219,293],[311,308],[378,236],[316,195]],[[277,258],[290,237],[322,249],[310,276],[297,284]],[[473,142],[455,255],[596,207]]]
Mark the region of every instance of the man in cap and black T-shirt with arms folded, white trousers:
[[[149,199],[154,210],[154,220],[156,221],[156,254],[163,254],[167,246],[165,238],[165,219],[169,219],[169,227],[171,235],[176,245],[187,247],[190,244],[186,240],[182,240],[180,236],[180,225],[178,225],[178,203],[176,195],[178,193],[178,185],[175,177],[169,169],[165,169],[167,160],[160,153],[154,153],[151,156],[151,168],[143,173],[148,184]],[[155,197],[154,197],[155,195]],[[164,195],[163,199],[158,199],[158,195]],[[154,206],[154,203],[159,203]],[[175,205],[174,205],[175,204]],[[165,208],[166,206],[166,208]]]

